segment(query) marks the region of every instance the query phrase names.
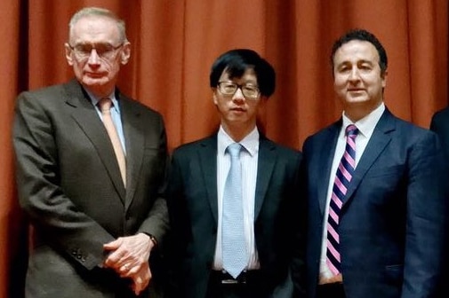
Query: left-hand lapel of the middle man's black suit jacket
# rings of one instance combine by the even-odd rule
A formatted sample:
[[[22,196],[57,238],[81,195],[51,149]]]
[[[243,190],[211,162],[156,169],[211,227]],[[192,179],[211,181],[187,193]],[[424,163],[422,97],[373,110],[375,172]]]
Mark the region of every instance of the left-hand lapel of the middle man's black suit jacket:
[[[198,148],[198,161],[204,179],[207,200],[215,223],[218,223],[218,195],[217,195],[217,136],[204,139]]]

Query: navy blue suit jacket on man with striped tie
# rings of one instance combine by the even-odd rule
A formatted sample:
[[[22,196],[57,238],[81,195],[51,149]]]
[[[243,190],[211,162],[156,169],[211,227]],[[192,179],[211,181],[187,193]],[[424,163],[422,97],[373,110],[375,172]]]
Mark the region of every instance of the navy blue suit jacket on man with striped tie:
[[[325,200],[341,121],[303,147],[309,221],[308,296],[315,297]],[[341,208],[348,297],[435,297],[446,268],[448,176],[437,136],[388,110],[357,164]]]

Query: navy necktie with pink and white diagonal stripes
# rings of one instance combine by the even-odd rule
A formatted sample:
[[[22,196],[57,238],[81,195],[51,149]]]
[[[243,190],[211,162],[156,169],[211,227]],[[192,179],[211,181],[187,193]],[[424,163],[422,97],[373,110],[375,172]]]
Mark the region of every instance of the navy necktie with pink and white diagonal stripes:
[[[334,275],[341,272],[340,235],[338,226],[342,201],[356,168],[356,137],[358,129],[350,124],[346,128],[346,148],[333,183],[333,193],[327,217],[327,265]]]

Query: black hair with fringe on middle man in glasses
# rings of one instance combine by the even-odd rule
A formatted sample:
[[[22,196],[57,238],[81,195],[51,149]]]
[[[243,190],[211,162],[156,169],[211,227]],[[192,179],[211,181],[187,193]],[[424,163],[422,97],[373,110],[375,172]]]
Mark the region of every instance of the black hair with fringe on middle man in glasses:
[[[227,51],[213,62],[209,76],[211,87],[217,87],[223,71],[226,71],[232,79],[241,77],[247,69],[251,68],[256,74],[261,95],[271,96],[276,88],[275,69],[257,52],[248,49]]]

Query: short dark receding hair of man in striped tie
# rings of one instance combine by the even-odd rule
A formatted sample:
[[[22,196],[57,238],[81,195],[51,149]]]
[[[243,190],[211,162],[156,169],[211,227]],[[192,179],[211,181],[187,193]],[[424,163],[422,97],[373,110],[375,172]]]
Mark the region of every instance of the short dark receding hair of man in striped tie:
[[[364,41],[372,43],[379,54],[379,67],[381,67],[381,74],[385,74],[387,67],[389,66],[389,59],[387,57],[387,51],[383,48],[381,42],[373,33],[365,29],[352,29],[348,31],[345,35],[342,35],[339,39],[333,43],[332,53],[331,53],[331,66],[333,67],[333,58],[335,57],[335,52],[341,48],[345,43],[349,43],[353,40]]]

